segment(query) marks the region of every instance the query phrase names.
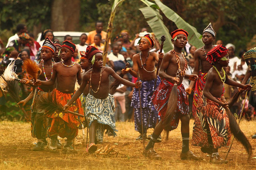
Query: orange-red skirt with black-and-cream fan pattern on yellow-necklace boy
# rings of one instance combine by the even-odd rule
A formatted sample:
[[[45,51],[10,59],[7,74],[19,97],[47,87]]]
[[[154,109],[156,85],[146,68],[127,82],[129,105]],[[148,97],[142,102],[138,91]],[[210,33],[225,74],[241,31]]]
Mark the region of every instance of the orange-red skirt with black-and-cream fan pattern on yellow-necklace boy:
[[[220,98],[216,99],[221,101]],[[226,110],[216,102],[206,98],[202,93],[198,99],[192,145],[209,147],[207,129],[210,131],[214,148],[229,145],[231,131]]]

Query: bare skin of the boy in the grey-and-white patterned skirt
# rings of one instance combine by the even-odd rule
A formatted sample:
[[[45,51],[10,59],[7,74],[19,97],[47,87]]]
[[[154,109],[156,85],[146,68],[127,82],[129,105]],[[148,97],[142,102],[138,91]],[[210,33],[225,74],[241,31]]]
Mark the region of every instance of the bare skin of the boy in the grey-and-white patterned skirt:
[[[90,94],[93,95],[95,98],[99,99],[105,99],[108,97],[108,92],[109,92],[109,75],[113,76],[116,80],[120,81],[122,84],[126,86],[132,86],[135,88],[140,88],[141,87],[141,82],[136,82],[136,84],[129,82],[128,80],[125,80],[118,76],[116,72],[110,67],[105,67],[103,66],[103,57],[101,53],[96,53],[95,54],[95,62],[92,66],[92,69],[88,70],[84,75],[82,79],[82,84],[80,85],[80,88],[76,91],[74,96],[70,99],[70,101],[63,107],[63,109],[68,109],[70,105],[77,99],[79,96],[82,94],[84,91],[84,88],[87,85],[87,82],[90,81],[90,72],[92,71],[92,80],[91,80],[91,85],[94,91],[97,90],[99,81],[100,81],[100,71],[102,70],[102,77],[101,77],[101,83],[100,83],[100,89],[98,90],[97,93],[92,92],[90,90]],[[90,137],[90,143],[95,142],[95,133],[96,133],[96,128],[98,126],[97,120],[94,120],[90,126],[89,129],[89,137]]]

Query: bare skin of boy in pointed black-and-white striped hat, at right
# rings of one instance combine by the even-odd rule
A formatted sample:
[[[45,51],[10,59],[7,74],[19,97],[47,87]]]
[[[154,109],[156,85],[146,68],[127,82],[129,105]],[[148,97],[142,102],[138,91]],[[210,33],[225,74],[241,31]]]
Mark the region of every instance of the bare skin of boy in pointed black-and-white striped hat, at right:
[[[215,37],[208,32],[204,32],[202,35],[202,41],[204,43],[205,52],[206,54],[213,49],[215,46],[213,45],[213,41],[215,40]],[[200,49],[197,49],[194,54],[195,58],[195,67],[193,74],[198,75],[199,74],[199,68],[201,66],[201,71],[203,73],[208,72],[210,68],[212,68],[212,65],[206,60],[206,56],[204,53],[204,48],[201,47]],[[190,82],[188,88],[186,88],[187,94],[191,94],[192,90],[194,89],[196,82]]]

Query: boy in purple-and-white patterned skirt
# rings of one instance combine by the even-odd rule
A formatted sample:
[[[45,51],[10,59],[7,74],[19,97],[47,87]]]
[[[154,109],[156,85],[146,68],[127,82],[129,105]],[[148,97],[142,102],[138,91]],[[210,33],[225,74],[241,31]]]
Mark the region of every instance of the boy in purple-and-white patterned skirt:
[[[158,62],[158,57],[162,58],[164,54],[160,53],[157,55],[156,52],[149,52],[152,47],[154,47],[153,39],[150,37],[149,34],[144,35],[144,37],[142,37],[139,41],[139,49],[141,52],[135,54],[132,57],[132,61],[134,64],[133,70],[131,70],[130,68],[122,70],[123,74],[129,72],[134,77],[137,77],[137,72],[139,72],[140,80],[142,81],[142,88],[140,89],[141,106],[138,89],[134,89],[131,103],[131,107],[134,107],[135,130],[140,133],[140,136],[136,138],[136,140],[142,140],[143,138],[146,139],[147,129],[155,128],[156,122],[158,120],[158,113],[155,107],[151,106],[152,102],[150,98],[152,97],[154,90],[156,90],[156,87],[158,87],[161,81],[160,77],[157,76],[156,87],[154,87],[154,82],[156,78],[155,62]],[[143,121],[141,121],[140,107],[142,107]],[[144,137],[142,137],[141,124],[143,125]]]

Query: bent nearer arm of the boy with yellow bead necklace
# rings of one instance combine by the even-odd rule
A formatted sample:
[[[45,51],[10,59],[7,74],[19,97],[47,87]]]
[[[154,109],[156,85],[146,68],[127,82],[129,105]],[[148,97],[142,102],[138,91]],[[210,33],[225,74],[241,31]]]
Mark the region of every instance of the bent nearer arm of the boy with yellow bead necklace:
[[[228,102],[226,102],[226,103],[221,102],[221,101],[217,100],[216,98],[214,98],[214,96],[212,96],[212,94],[210,93],[210,89],[212,88],[212,82],[214,81],[215,77],[216,77],[216,73],[208,72],[208,74],[206,76],[206,83],[204,86],[203,94],[206,98],[208,98],[208,99],[212,100],[213,102],[226,108],[228,106]]]

